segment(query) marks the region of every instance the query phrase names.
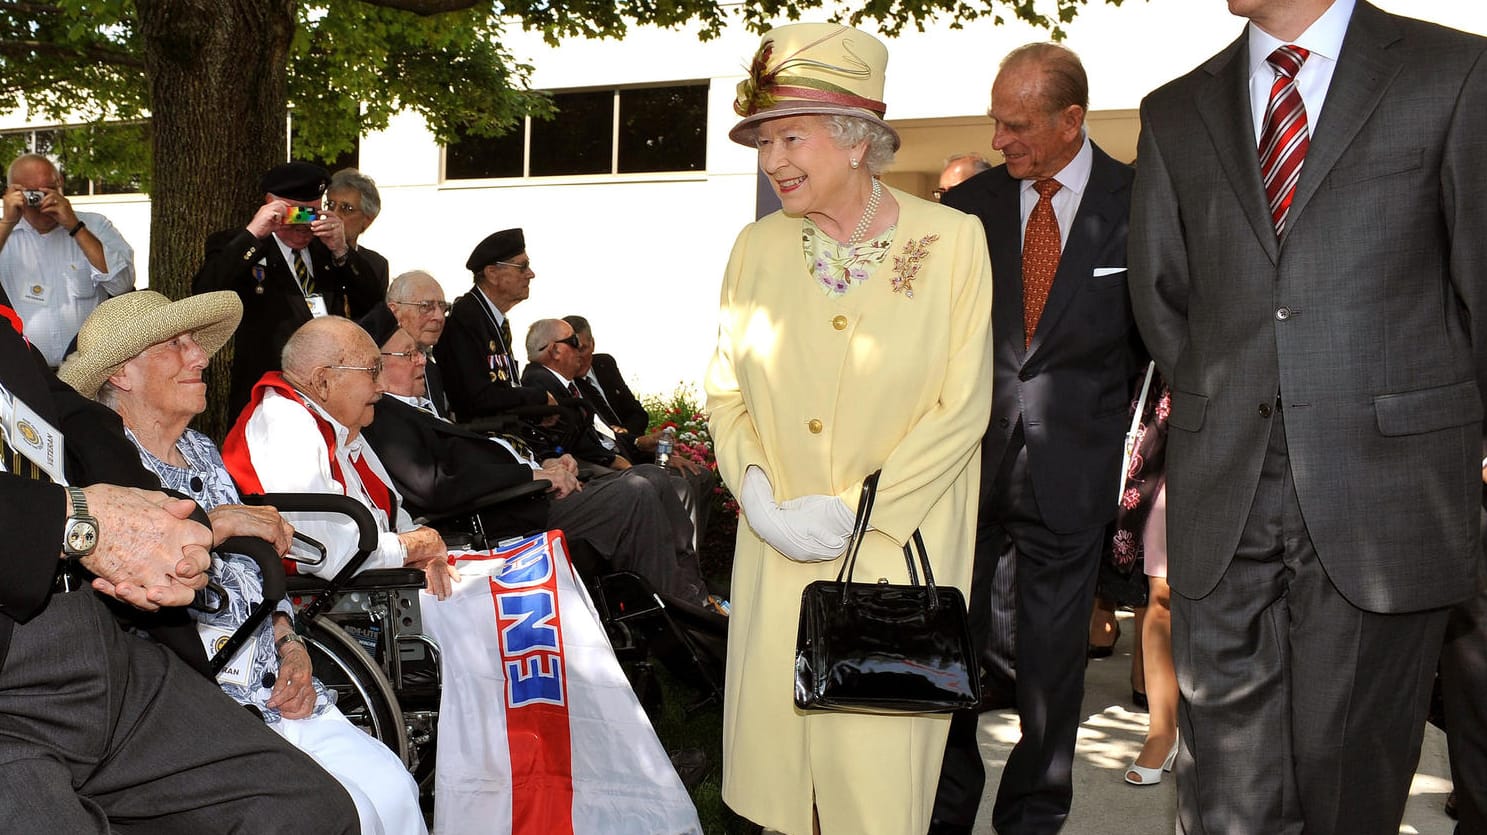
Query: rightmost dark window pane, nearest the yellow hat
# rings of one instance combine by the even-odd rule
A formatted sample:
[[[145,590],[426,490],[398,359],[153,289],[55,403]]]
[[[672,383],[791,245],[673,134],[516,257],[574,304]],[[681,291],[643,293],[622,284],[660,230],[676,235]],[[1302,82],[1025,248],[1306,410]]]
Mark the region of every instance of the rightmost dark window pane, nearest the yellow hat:
[[[620,91],[620,172],[703,171],[708,88]]]

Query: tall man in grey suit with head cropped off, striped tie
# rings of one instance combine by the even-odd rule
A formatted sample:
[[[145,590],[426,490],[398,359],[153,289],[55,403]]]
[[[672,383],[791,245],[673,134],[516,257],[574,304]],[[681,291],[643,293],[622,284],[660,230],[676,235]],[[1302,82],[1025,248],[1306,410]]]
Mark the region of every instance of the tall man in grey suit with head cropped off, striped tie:
[[[1392,834],[1477,585],[1487,40],[1230,10],[1239,40],[1142,103],[1132,211],[1172,385],[1179,831]]]

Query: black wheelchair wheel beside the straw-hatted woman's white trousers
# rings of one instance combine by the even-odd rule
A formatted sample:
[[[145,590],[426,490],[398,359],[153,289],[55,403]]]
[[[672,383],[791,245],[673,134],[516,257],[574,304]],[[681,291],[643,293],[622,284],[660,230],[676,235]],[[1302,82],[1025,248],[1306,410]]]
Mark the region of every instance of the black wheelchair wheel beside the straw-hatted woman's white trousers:
[[[305,630],[305,643],[318,678],[336,691],[336,707],[352,725],[376,737],[403,761],[407,759],[407,725],[393,686],[354,637],[329,618],[315,618]]]

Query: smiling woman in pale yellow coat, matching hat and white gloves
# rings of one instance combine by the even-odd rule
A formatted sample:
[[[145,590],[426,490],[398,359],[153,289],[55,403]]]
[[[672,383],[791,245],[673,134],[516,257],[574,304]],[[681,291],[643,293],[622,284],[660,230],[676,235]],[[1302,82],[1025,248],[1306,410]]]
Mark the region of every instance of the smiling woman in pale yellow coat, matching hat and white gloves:
[[[836,24],[764,34],[729,132],[782,211],[746,226],[708,368],[739,496],[723,798],[770,829],[925,832],[946,716],[800,710],[801,590],[831,579],[864,478],[882,471],[857,571],[907,582],[917,530],[940,585],[971,579],[990,413],[992,266],[974,217],[885,187],[888,51]]]

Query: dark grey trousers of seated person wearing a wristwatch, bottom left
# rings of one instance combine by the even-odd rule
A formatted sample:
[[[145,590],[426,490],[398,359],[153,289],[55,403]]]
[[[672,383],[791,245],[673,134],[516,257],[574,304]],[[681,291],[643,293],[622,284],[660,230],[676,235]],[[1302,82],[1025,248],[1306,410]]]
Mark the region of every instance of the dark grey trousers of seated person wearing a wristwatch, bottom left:
[[[341,784],[92,591],[16,624],[0,669],[12,832],[358,832]]]

